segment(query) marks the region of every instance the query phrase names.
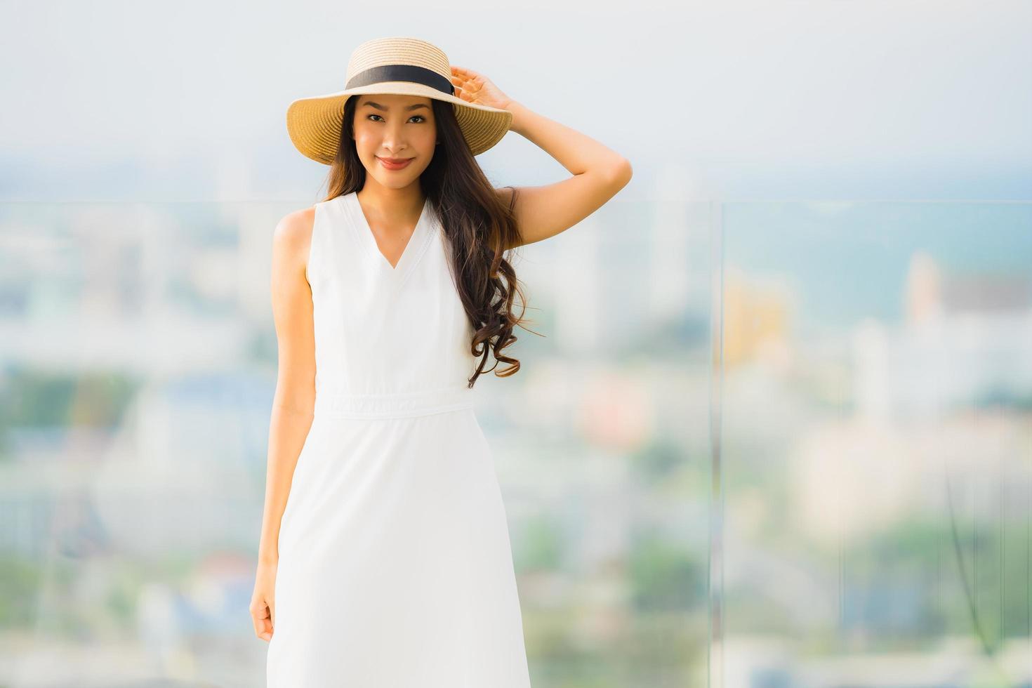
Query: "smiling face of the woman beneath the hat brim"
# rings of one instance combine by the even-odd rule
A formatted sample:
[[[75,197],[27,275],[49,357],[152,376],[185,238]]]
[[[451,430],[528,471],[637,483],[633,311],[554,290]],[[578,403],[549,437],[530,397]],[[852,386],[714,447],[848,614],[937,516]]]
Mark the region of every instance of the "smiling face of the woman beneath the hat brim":
[[[433,107],[425,96],[363,94],[355,96],[355,150],[358,158],[382,186],[402,189],[419,178],[437,148],[438,127]],[[392,169],[381,159],[408,160]]]

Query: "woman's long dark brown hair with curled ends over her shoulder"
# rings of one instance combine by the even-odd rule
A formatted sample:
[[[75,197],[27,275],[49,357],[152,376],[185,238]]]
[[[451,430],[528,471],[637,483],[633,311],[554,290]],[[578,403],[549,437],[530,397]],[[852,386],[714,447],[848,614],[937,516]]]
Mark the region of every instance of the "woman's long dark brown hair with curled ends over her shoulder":
[[[357,101],[358,97],[351,97],[345,102],[341,144],[330,164],[324,200],[359,191],[365,184],[365,167],[352,138]],[[466,381],[472,388],[482,372],[495,370],[498,363],[509,365],[494,372],[498,378],[519,371],[519,361],[502,353],[516,341],[513,334],[516,326],[527,329],[523,326],[526,299],[516,271],[506,260],[506,247],[522,242],[513,212],[517,192],[510,187],[513,192],[508,206],[498,200],[466,145],[455,120],[454,106],[437,98],[430,98],[430,103],[440,145],[434,146],[433,159],[420,175],[419,184],[441,218],[451,248],[449,262],[455,287],[475,330],[470,353],[480,357],[480,364]],[[513,313],[516,296],[521,305],[518,317]],[[494,354],[495,363],[484,370],[489,351]]]

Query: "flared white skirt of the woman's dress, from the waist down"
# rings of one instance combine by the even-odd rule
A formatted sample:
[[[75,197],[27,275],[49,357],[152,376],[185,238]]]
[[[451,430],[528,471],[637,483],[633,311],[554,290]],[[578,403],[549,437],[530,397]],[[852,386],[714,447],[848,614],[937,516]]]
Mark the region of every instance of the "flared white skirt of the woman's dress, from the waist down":
[[[267,688],[530,685],[493,459],[452,399],[383,418],[320,399],[280,527]]]

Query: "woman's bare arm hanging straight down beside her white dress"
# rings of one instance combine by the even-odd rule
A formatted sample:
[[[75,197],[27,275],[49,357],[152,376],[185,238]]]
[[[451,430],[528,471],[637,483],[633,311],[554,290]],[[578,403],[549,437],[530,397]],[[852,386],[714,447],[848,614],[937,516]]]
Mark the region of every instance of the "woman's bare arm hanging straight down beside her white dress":
[[[272,637],[276,625],[273,592],[280,561],[280,521],[315,409],[312,290],[304,275],[314,218],[315,208],[291,212],[280,221],[272,237],[272,316],[279,369],[269,422],[258,570],[251,598],[255,634],[264,641]]]

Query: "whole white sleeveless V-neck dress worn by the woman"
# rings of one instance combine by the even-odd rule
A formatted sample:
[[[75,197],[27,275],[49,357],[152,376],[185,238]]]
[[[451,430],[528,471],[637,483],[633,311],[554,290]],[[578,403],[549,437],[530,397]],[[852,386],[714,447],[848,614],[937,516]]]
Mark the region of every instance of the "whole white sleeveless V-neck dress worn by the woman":
[[[446,245],[429,199],[396,267],[354,193],[315,206],[315,418],[280,527],[267,688],[530,685]]]

